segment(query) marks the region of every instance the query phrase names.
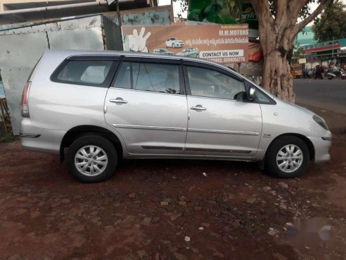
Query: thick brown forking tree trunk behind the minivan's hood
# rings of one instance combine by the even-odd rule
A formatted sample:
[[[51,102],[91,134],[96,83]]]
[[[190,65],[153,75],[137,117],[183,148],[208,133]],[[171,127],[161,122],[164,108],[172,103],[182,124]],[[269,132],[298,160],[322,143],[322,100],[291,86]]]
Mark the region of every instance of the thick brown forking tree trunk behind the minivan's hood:
[[[284,101],[295,102],[293,78],[289,64],[295,35],[313,20],[332,0],[320,5],[306,19],[297,23],[303,6],[309,0],[273,0],[274,15],[268,0],[251,0],[258,19],[258,33],[264,55],[262,85]]]

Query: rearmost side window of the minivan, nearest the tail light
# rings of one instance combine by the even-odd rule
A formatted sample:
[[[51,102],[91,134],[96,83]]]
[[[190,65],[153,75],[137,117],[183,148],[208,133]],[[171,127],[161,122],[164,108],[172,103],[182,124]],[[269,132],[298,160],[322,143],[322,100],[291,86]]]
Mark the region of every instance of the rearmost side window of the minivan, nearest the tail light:
[[[53,73],[52,80],[60,83],[108,87],[112,60],[68,60]]]

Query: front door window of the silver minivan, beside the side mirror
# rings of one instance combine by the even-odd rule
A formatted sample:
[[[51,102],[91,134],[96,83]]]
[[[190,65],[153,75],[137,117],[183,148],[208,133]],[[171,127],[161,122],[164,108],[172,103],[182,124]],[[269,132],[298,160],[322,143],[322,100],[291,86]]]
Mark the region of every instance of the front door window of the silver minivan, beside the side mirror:
[[[244,82],[219,71],[186,67],[192,96],[242,100],[246,96]]]

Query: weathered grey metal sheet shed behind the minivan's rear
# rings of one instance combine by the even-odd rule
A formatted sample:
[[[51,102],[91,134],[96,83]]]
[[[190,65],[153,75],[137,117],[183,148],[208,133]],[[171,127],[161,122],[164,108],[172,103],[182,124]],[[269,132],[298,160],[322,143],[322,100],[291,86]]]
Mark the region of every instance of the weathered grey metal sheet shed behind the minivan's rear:
[[[170,6],[121,12],[122,25],[167,25]],[[20,102],[26,80],[46,49],[122,50],[116,12],[86,17],[21,24],[0,28],[0,73],[11,114],[14,135],[19,135]]]

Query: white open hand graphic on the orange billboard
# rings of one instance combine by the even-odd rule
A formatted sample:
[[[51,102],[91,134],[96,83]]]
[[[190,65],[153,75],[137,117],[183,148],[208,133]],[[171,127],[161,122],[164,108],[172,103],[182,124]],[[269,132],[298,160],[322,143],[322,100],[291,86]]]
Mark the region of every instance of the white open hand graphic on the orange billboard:
[[[140,29],[140,33],[138,35],[138,31],[134,29],[133,35],[125,35],[124,42],[125,48],[124,51],[140,51],[148,53],[149,49],[147,49],[147,40],[152,35],[152,33],[148,32],[146,35],[145,28],[142,27]]]

